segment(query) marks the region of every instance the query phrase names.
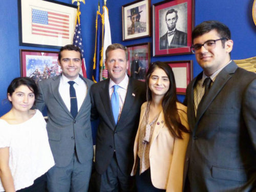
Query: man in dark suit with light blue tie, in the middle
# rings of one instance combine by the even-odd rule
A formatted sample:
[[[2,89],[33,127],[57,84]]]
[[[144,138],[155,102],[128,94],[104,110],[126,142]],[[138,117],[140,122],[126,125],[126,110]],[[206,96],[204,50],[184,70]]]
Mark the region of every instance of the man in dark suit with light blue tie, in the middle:
[[[91,88],[92,119],[99,117],[95,154],[97,191],[132,192],[133,145],[141,104],[145,101],[145,84],[127,76],[129,63],[124,46],[110,45],[105,55],[110,79]]]

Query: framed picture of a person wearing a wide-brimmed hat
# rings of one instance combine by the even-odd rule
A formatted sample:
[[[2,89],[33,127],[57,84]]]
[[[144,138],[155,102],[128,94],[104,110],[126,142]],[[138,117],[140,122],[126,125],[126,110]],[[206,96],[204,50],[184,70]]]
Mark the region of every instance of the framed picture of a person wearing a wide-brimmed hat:
[[[150,36],[150,0],[122,6],[123,40]]]

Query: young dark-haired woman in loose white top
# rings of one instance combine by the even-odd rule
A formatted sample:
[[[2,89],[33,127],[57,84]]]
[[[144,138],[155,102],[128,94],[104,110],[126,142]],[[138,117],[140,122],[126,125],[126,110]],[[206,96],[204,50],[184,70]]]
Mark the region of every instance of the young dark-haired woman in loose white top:
[[[12,108],[0,118],[0,191],[45,191],[54,160],[45,119],[31,109],[37,95],[28,77],[13,79],[7,89]]]

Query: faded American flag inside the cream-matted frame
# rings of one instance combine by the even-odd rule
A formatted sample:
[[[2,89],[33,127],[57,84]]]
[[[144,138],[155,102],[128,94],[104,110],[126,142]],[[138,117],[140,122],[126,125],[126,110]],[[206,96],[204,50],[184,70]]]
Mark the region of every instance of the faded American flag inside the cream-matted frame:
[[[32,34],[69,39],[69,24],[69,15],[32,9]]]

